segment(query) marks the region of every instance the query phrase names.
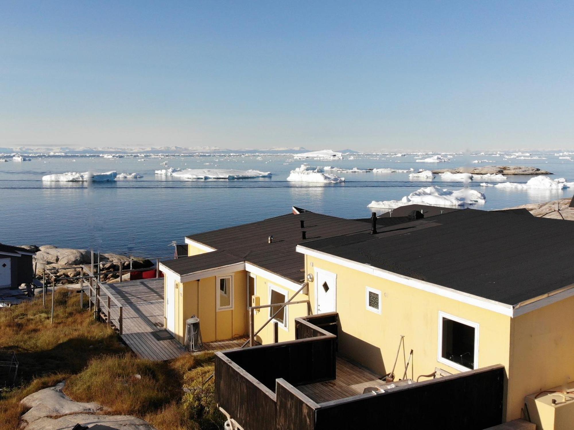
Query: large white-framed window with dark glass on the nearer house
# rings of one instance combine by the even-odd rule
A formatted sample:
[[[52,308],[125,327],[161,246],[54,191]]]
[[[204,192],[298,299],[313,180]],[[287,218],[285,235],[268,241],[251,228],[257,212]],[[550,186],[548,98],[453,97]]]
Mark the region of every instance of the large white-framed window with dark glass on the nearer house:
[[[478,339],[478,323],[439,312],[439,362],[461,372],[478,369]]]

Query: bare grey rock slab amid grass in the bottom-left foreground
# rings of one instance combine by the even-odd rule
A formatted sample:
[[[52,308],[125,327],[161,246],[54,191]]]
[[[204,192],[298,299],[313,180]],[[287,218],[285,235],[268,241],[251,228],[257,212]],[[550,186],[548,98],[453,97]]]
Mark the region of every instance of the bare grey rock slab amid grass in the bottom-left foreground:
[[[91,428],[118,430],[157,430],[147,421],[131,415],[99,415],[98,403],[75,402],[62,390],[65,382],[24,397],[20,403],[28,412],[22,415],[20,428],[25,430],[72,429],[76,424]]]

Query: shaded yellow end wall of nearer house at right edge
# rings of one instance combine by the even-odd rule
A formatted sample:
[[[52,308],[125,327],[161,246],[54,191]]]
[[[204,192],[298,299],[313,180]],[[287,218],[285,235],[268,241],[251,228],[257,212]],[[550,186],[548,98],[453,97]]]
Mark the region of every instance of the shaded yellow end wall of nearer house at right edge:
[[[574,297],[512,320],[508,419],[520,417],[528,394],[574,380]]]

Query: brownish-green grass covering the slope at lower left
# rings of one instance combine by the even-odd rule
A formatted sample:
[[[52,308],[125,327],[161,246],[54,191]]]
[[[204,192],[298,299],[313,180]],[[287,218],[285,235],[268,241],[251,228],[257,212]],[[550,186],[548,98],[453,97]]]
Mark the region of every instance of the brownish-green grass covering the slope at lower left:
[[[41,299],[0,310],[0,350],[15,351],[20,361],[17,386],[0,393],[0,429],[17,428],[22,398],[63,380],[73,400],[99,402],[106,413],[135,415],[159,429],[222,428],[213,379],[205,382],[213,354],[140,359],[80,310],[79,294],[57,290],[55,303],[53,325]]]

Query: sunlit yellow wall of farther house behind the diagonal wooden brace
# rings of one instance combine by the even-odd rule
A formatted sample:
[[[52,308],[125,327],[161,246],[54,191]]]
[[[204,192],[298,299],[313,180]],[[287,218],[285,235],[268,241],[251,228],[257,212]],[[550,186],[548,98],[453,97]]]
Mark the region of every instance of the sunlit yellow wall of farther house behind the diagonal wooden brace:
[[[291,288],[288,287],[284,287],[276,282],[272,282],[269,279],[267,279],[266,277],[263,276],[256,276],[255,277],[255,291],[256,291],[256,295],[259,296],[259,304],[269,304],[270,303],[270,297],[269,297],[269,285],[273,284],[276,287],[281,288],[281,290],[285,290],[288,294],[288,297],[286,298],[286,300],[289,300],[289,298],[295,294],[295,292],[297,290],[292,290]],[[308,295],[306,294],[298,294],[296,298],[293,299],[293,302],[296,302],[297,300],[307,300],[309,298]],[[292,341],[293,339],[295,339],[295,322],[294,319],[295,318],[299,318],[300,316],[307,316],[307,304],[306,303],[300,303],[300,304],[290,304],[287,305],[286,307],[288,307],[288,311],[287,311],[287,319],[288,319],[288,324],[287,324],[287,329],[285,329],[285,327],[282,327],[281,325],[279,325],[279,329],[278,329],[278,337],[279,337],[279,342],[283,342],[283,341]],[[271,316],[271,314],[269,313],[269,308],[263,308],[261,310],[259,310],[259,312],[255,312],[255,318],[254,318],[254,329],[255,331],[259,330],[259,328],[267,321],[267,319],[269,319],[269,317]],[[247,327],[247,330],[249,330],[249,327]],[[273,343],[273,322],[270,322],[269,324],[267,324],[265,326],[265,328],[263,328],[263,330],[261,331],[261,333],[259,333],[256,337],[255,340],[263,345],[267,344],[267,343]]]

